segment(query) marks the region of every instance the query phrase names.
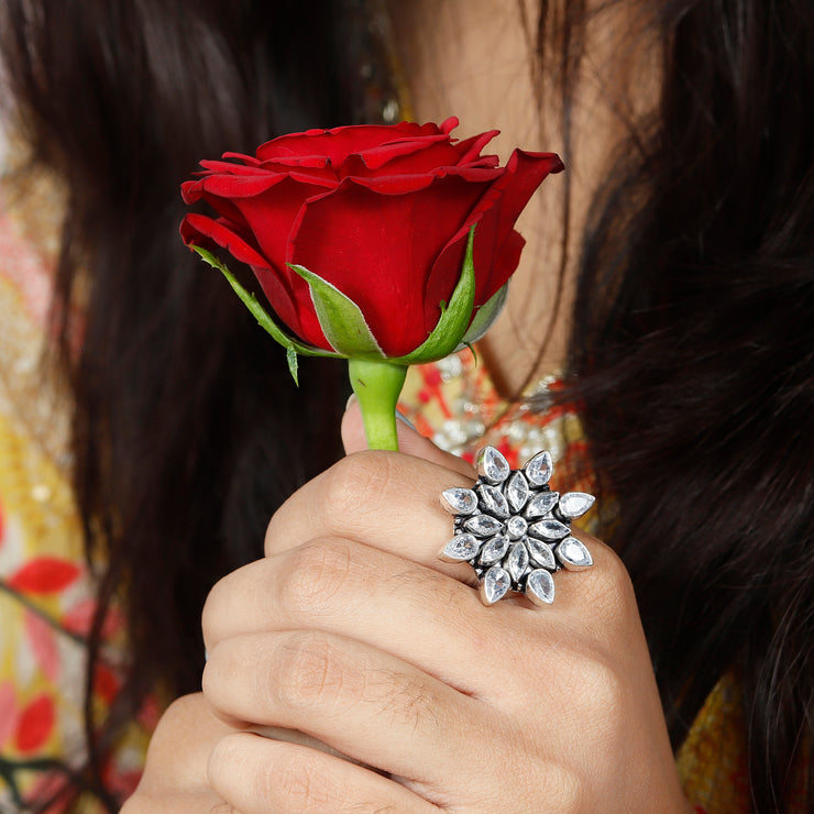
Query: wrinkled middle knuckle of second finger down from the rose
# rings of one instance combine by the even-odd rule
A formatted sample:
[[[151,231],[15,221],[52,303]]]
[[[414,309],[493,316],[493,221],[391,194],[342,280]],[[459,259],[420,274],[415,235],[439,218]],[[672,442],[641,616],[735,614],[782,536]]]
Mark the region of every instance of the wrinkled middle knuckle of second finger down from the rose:
[[[318,538],[292,552],[290,574],[280,587],[285,606],[300,616],[332,612],[337,595],[355,573],[346,540]]]

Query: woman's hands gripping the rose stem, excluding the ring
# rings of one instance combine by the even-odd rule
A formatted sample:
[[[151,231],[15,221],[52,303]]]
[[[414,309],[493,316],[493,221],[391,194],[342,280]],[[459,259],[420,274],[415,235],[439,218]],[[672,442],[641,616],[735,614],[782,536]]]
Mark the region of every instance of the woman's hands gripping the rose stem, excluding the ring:
[[[402,431],[413,454],[339,462],[215,587],[205,697],[170,708],[127,814],[691,811],[618,558],[580,535],[594,568],[558,573],[551,607],[483,606],[437,559],[439,494],[473,474]],[[355,411],[344,437],[363,446]]]

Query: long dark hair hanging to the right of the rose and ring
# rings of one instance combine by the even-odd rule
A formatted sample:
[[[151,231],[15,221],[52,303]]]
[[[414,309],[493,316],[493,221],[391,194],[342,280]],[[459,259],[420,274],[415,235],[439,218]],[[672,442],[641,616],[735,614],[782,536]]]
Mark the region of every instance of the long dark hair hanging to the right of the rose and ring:
[[[582,6],[540,18],[563,46],[548,64],[566,124]],[[569,398],[620,505],[608,539],[673,745],[734,671],[751,804],[780,811],[795,784],[814,800],[814,8],[642,13],[661,92],[624,122],[588,218]]]

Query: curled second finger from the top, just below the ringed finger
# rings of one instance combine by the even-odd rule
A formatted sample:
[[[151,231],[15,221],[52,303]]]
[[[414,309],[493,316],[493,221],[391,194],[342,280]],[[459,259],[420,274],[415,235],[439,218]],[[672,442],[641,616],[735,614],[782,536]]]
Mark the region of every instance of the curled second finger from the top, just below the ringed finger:
[[[458,580],[344,539],[310,540],[250,563],[204,609],[211,651],[253,631],[317,629],[387,650],[452,688],[498,702],[534,608],[486,608]],[[496,658],[498,657],[498,658]],[[519,664],[518,664],[519,668]]]

